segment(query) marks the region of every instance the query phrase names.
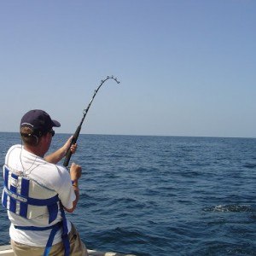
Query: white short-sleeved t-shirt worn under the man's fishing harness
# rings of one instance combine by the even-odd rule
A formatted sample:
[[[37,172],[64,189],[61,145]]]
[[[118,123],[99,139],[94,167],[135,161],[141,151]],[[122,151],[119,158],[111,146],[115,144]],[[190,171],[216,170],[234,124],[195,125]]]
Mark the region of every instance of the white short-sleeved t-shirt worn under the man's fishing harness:
[[[5,165],[11,170],[17,170],[26,173],[28,177],[38,181],[48,189],[53,189],[59,195],[63,207],[70,209],[73,207],[73,201],[76,195],[73,191],[71,178],[67,169],[63,166],[56,166],[46,162],[43,158],[26,151],[21,145],[15,145],[9,148],[5,157]],[[49,216],[43,215],[38,218],[26,219],[13,212],[8,211],[11,225],[9,236],[12,240],[35,247],[45,247],[51,230],[19,230],[14,225],[20,226],[50,226],[61,221],[61,212],[54,222],[49,224]],[[68,232],[71,230],[71,224],[67,221]],[[58,230],[53,244],[61,241],[61,232]]]

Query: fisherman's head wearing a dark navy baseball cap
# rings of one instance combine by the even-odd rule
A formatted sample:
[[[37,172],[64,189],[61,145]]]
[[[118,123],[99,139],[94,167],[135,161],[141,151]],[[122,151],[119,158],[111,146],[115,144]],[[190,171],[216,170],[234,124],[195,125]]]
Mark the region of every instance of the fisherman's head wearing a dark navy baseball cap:
[[[20,121],[20,135],[24,143],[36,146],[40,137],[47,133],[54,136],[53,127],[60,127],[61,124],[50,118],[44,110],[33,109],[24,114]]]

